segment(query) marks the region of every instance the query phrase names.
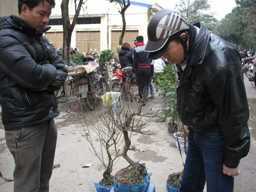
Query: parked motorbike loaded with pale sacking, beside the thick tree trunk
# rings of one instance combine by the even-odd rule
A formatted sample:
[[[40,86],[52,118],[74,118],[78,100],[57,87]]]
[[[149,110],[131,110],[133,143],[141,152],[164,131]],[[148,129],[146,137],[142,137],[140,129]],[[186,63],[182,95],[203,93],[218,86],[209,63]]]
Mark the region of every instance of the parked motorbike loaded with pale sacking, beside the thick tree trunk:
[[[68,73],[74,78],[76,96],[82,106],[93,110],[97,99],[100,99],[104,93],[98,59],[93,60],[91,55],[87,55],[87,61],[81,62],[81,65],[70,67]]]

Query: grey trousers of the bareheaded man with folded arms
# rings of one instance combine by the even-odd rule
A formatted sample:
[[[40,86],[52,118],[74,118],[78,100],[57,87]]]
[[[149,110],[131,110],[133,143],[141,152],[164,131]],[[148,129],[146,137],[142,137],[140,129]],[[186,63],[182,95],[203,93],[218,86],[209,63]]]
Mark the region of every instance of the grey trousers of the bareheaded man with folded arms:
[[[5,137],[15,160],[14,192],[48,192],[57,142],[54,120],[5,131]]]

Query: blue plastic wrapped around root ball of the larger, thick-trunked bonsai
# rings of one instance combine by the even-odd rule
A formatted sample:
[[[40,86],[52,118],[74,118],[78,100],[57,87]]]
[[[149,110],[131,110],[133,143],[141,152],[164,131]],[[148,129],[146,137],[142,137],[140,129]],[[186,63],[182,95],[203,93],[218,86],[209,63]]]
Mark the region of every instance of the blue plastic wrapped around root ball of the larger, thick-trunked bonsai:
[[[128,184],[118,184],[116,183],[116,180],[114,180],[114,192],[128,192],[131,189],[131,192],[146,192],[148,190],[149,186],[149,180],[150,177],[147,173],[145,174],[145,179],[143,180],[141,185],[128,185]]]

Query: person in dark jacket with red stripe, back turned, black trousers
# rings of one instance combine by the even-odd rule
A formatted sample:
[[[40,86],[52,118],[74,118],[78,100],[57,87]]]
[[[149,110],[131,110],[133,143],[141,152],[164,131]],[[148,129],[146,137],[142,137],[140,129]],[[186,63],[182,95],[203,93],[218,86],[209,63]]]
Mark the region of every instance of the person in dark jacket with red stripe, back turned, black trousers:
[[[151,60],[147,58],[148,53],[144,51],[145,44],[143,36],[138,36],[136,41],[137,45],[133,51],[134,70],[140,94],[138,102],[141,102],[142,100],[145,100],[148,95]]]

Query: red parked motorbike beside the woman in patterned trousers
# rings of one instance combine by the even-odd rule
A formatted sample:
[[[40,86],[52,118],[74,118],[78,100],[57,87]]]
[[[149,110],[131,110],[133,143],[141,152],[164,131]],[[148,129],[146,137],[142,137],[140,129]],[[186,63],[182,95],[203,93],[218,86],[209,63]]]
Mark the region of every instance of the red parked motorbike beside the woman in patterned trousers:
[[[123,89],[122,82],[123,82],[123,76],[122,76],[121,65],[117,64],[113,70],[113,77],[110,80],[111,91],[122,93],[122,89]]]

